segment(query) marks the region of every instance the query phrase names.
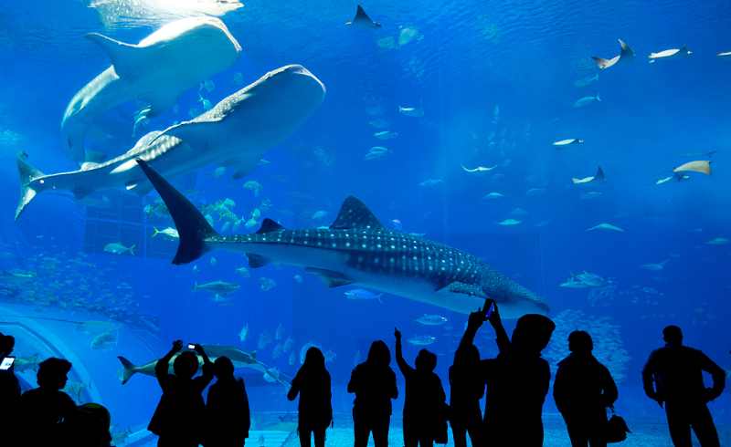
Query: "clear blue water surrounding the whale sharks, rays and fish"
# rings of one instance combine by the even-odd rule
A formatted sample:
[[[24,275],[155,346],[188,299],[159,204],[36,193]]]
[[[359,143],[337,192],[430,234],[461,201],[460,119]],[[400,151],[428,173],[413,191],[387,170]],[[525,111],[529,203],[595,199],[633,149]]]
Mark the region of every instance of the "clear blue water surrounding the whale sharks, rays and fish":
[[[258,349],[257,356],[282,374],[296,374],[299,349],[312,341],[336,353],[327,366],[334,385],[343,387],[356,351],[365,359],[375,339],[392,347],[393,327],[398,327],[405,336],[437,338],[429,349],[440,354],[437,372],[448,390],[450,349],[459,341],[465,315],[400,296],[384,295],[383,303],[347,300],[344,291],[351,287],[325,289],[313,275],[289,265],[281,270],[275,265],[249,269],[251,276],[243,278],[235,268],[248,267],[246,259],[232,253],[205,255],[192,265],[170,265],[176,243],[152,235],[153,227],[166,228],[172,220],[142,212],[143,206],[154,203],[154,192],[143,200],[116,191],[95,192],[91,198],[110,200],[104,209],[45,192],[13,223],[17,151],[25,151],[41,172],[74,168],[58,145],[61,117],[74,94],[110,65],[101,49],[83,36],[96,32],[137,43],[165,23],[195,14],[163,6],[143,10],[139,5],[128,8],[113,1],[90,7],[88,1],[48,0],[0,5],[0,169],[6,192],[0,199],[0,243],[5,244],[0,251],[23,258],[3,258],[0,264],[5,270],[37,275],[32,285],[4,285],[18,295],[0,296],[2,314],[16,315],[0,317],[0,326],[21,340],[16,355],[40,352],[42,358],[71,359],[74,378],[92,380],[85,400],[101,401],[112,419],[140,430],[154,411],[159,391],[154,380],[144,376],[121,387],[115,376],[120,368],[117,356],[143,364],[164,355],[177,338],[253,351],[260,333],[266,330],[273,338],[280,324],[285,327],[283,338]],[[705,244],[731,238],[731,62],[714,57],[731,51],[731,4],[376,1],[363,6],[382,29],[344,26],[353,18],[355,4],[342,2],[317,2],[315,7],[252,1],[221,15],[242,52],[230,68],[210,78],[216,87],[204,93],[212,104],[288,64],[309,69],[327,93],[312,118],[264,155],[270,164],[240,181],[232,181],[231,172],[221,179],[192,174],[179,186],[202,188],[207,203],[230,198],[239,216],[248,217],[261,200],[270,199],[273,209],[264,215],[287,228],[330,224],[345,197],[353,195],[389,228],[397,219],[405,232],[423,233],[482,257],[542,296],[551,307],[549,317],[574,316],[574,326],[581,327],[562,323],[562,334],[605,318],[601,321],[606,325],[595,324],[592,336],[595,345],[598,338],[607,342],[603,355],[615,355],[614,361],[619,361],[614,371],[620,383],[618,409],[629,414],[662,416],[639,387],[641,367],[652,348],[662,346],[665,326],[682,327],[686,345],[731,369],[726,327],[731,315],[731,244]],[[634,50],[635,60],[601,71],[586,87],[574,87],[578,79],[597,73],[592,56],[619,55],[618,38]],[[683,45],[691,56],[648,63],[650,53]],[[242,75],[240,86],[231,82],[236,73]],[[120,154],[149,131],[189,120],[188,109],[202,111],[196,90],[178,99],[179,111],[168,109],[138,129],[137,138],[132,138],[132,116],[138,109],[134,101],[109,110],[95,121],[99,127],[87,133],[86,149]],[[600,101],[573,107],[577,99],[598,94]],[[399,105],[415,107],[420,100],[423,118],[398,113]],[[500,118],[493,124],[496,106]],[[397,131],[398,137],[377,140],[374,133],[383,130]],[[574,138],[585,142],[563,150],[551,146]],[[374,146],[386,146],[393,154],[365,161]],[[678,156],[692,148],[718,152],[710,159]],[[510,163],[483,177],[461,167],[493,167],[505,160]],[[647,184],[658,179],[655,174],[694,160],[712,160],[713,175],[689,172],[688,182]],[[572,178],[590,177],[598,166],[608,182],[573,184]],[[493,181],[496,173],[504,177]],[[278,182],[267,174],[289,181]],[[419,186],[429,179],[442,182]],[[260,197],[225,185],[250,180],[263,185]],[[532,188],[544,192],[525,195]],[[285,203],[288,191],[308,192],[316,200]],[[489,192],[507,197],[479,200]],[[581,192],[600,195],[580,200]],[[300,215],[302,208],[331,214],[313,221]],[[517,208],[524,210],[523,217],[512,214]],[[274,211],[281,209],[295,215]],[[494,224],[527,216],[530,219],[514,226]],[[623,231],[586,231],[603,223]],[[255,229],[241,225],[238,233]],[[693,232],[697,229],[702,231]],[[136,244],[134,255],[103,252],[111,242]],[[666,259],[660,271],[641,268]],[[194,265],[199,268],[195,274]],[[601,290],[559,287],[569,270],[611,276],[612,283]],[[257,275],[273,279],[277,286],[262,292]],[[302,276],[302,284],[294,275]],[[233,306],[222,307],[207,299],[211,295],[190,292],[195,282],[217,280],[241,286],[228,296]],[[90,287],[90,295],[79,292],[82,284]],[[86,303],[83,309],[63,307],[61,303],[78,300],[79,294]],[[99,304],[105,308],[92,308]],[[572,312],[561,314],[567,309]],[[424,313],[449,322],[412,327],[411,317]],[[126,315],[132,322],[120,331],[116,346],[101,351],[91,349],[93,336],[77,332],[73,324],[18,317],[22,315],[73,321]],[[145,329],[143,319],[159,330],[149,325]],[[247,324],[251,337],[242,343],[237,334]],[[509,331],[513,325],[506,322]],[[476,341],[483,358],[496,352],[494,341],[482,338],[492,336],[491,331],[483,328]],[[277,343],[288,337],[294,338],[293,366],[289,352],[271,357]],[[556,338],[545,357],[556,363],[566,343]],[[408,348],[407,359],[416,353],[416,348]],[[281,385],[266,381],[260,372],[238,372],[245,374],[250,393],[260,396],[252,400],[252,410],[296,410],[296,403],[282,396]],[[21,377],[35,386],[33,374],[27,371]],[[352,396],[334,393],[336,411],[349,411],[351,403]],[[710,409],[716,422],[731,424],[727,392]],[[556,411],[550,393],[544,410]]]

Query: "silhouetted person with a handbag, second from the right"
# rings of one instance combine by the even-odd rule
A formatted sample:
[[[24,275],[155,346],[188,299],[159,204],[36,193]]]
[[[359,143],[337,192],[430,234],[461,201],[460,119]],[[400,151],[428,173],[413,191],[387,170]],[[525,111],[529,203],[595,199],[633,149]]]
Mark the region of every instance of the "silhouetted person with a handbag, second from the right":
[[[591,336],[575,330],[568,336],[571,354],[558,362],[554,400],[572,447],[606,447],[606,408],[617,400],[617,385],[609,369],[591,355],[593,348]]]

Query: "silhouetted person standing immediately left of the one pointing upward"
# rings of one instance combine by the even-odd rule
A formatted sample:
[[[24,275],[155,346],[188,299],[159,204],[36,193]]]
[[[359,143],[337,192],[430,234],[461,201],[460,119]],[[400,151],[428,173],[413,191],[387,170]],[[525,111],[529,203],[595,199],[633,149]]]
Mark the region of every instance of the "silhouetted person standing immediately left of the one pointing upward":
[[[373,431],[376,447],[387,447],[391,400],[398,398],[396,374],[388,366],[391,352],[382,340],[374,341],[368,359],[353,369],[348,392],[355,393],[353,422],[355,447],[366,447]]]

